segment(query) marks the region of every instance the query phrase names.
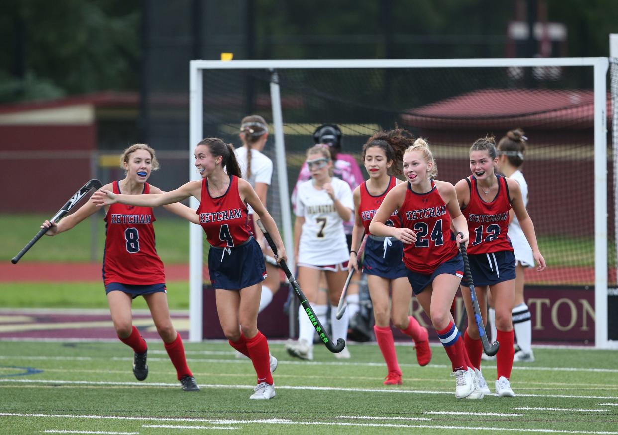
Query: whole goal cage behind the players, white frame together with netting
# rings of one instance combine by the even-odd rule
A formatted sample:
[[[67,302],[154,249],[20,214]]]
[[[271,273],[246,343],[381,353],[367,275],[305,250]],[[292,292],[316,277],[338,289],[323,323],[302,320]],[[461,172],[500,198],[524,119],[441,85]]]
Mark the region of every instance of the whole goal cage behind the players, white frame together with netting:
[[[198,141],[220,137],[240,146],[240,120],[263,116],[271,134],[264,152],[274,166],[267,208],[294,265],[290,195],[318,125],[341,127],[341,153],[352,154],[363,173],[361,149],[371,134],[408,129],[428,139],[438,179],[452,183],[470,174],[473,141],[487,134],[497,141],[520,127],[528,137],[528,211],[548,263],[546,272],[528,270],[526,284],[578,286],[593,294],[595,347],[618,348],[616,325],[608,324],[608,298],[616,294],[612,156],[618,143],[616,100],[607,93],[610,82],[618,95],[618,79],[608,80],[610,63],[612,77],[618,75],[607,57],[190,61],[190,179],[199,179],[193,167]],[[607,145],[612,114],[614,152]],[[190,225],[194,342],[203,337],[206,245],[201,228]]]

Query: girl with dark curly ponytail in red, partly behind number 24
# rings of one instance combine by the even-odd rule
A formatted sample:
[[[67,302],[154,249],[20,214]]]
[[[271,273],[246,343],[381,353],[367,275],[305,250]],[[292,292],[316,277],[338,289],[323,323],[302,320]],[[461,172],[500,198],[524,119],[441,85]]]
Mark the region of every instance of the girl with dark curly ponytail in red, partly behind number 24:
[[[369,224],[384,196],[397,184],[395,175],[401,175],[400,162],[404,150],[413,145],[412,133],[403,129],[379,132],[373,135],[363,146],[363,161],[369,179],[355,188],[353,192],[355,224],[352,231],[352,247],[358,247],[363,234],[368,237],[365,245],[363,272],[367,275],[367,284],[375,316],[376,342],[382,352],[388,370],[384,385],[400,385],[401,370],[397,363],[397,353],[391,331],[391,318],[397,329],[415,342],[419,365],[428,365],[431,360],[431,348],[427,329],[420,326],[418,320],[408,316],[408,306],[412,298],[412,289],[407,280],[407,272],[401,261],[403,245],[391,237],[378,237],[369,232]],[[400,227],[397,210],[386,221],[388,226]],[[358,271],[357,251],[350,252],[349,264]],[[389,289],[392,289],[391,312],[389,313]]]

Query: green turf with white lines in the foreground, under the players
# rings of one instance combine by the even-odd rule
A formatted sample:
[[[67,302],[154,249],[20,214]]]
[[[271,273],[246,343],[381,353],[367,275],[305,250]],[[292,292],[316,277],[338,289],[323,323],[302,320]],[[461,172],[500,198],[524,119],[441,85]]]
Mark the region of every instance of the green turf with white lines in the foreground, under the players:
[[[183,392],[161,342],[151,340],[150,374],[138,382],[121,343],[1,342],[0,433],[462,434],[618,433],[616,353],[535,349],[537,362],[515,366],[515,398],[456,400],[446,354],[415,364],[398,346],[404,385],[383,386],[376,345],[352,345],[352,360],[324,347],[315,361],[290,360],[282,344],[274,373],[277,395],[249,400],[255,373],[227,344],[185,344],[201,387]],[[484,363],[485,364],[485,363]],[[487,363],[486,378],[495,365]],[[493,382],[489,382],[493,390]]]

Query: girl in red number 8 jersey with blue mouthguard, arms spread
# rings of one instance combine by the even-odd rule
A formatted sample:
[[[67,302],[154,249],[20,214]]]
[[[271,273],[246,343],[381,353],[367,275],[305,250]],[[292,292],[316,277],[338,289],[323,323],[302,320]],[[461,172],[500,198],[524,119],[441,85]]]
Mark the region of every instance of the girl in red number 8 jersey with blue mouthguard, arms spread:
[[[155,150],[137,143],[127,148],[121,156],[121,167],[126,172],[124,180],[114,181],[103,188],[125,196],[142,196],[161,193],[161,189],[148,184],[151,171],[159,169]],[[195,211],[185,205],[172,203],[166,209],[197,224]],[[58,224],[45,221],[49,230],[46,235],[68,231],[98,211],[93,201],[88,201],[75,213],[64,217]],[[146,356],[148,346],[140,332],[132,324],[131,304],[138,296],[148,303],[150,313],[159,336],[163,340],[167,355],[176,368],[176,374],[184,391],[198,391],[193,374],[185,360],[185,350],[169,316],[167,290],[163,262],[155,248],[155,222],[153,209],[148,206],[133,207],[122,204],[106,206],[105,255],[103,258],[103,280],[108,296],[109,311],[114,321],[116,334],[125,344],[133,348],[133,374],[138,381],[148,376]]]

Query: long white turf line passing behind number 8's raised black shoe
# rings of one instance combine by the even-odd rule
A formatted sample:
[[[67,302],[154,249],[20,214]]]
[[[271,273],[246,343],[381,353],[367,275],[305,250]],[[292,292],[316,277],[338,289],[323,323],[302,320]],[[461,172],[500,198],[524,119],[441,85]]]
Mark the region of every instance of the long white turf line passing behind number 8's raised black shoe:
[[[161,352],[163,353],[163,352]],[[64,360],[64,361],[91,361],[91,360],[112,360],[112,361],[133,361],[133,357],[35,357],[32,355],[0,355],[0,360]],[[148,358],[148,361],[169,361],[168,358]],[[203,358],[187,358],[187,362],[190,363],[206,363],[206,364],[246,364],[247,360],[224,360],[224,359],[203,359]],[[353,362],[323,362],[323,361],[284,361],[286,365],[300,365],[300,366],[360,366],[360,367],[384,367],[384,363],[353,363]],[[400,367],[413,367],[418,368],[418,364],[405,364],[400,363]],[[485,367],[485,366],[484,366]],[[486,366],[486,368],[495,368],[495,366]],[[451,370],[451,366],[442,364],[432,364],[423,368],[423,370],[431,369],[448,369]],[[614,368],[579,368],[579,367],[523,367],[513,366],[514,371],[572,371],[582,373],[618,373],[618,369]]]

